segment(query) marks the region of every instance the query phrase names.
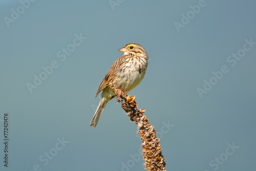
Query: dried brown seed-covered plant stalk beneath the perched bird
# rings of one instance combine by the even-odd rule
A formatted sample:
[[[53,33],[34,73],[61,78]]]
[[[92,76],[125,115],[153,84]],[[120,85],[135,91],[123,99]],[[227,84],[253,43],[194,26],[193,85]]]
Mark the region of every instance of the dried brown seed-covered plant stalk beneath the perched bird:
[[[135,102],[135,96],[120,96],[124,103],[122,103],[122,109],[130,117],[131,121],[135,121],[139,130],[138,134],[142,140],[142,157],[145,161],[145,170],[148,171],[158,171],[166,170],[164,162],[164,157],[162,155],[162,148],[160,147],[160,139],[156,136],[156,131],[154,126],[148,123],[148,119],[143,113],[145,109],[139,109]]]

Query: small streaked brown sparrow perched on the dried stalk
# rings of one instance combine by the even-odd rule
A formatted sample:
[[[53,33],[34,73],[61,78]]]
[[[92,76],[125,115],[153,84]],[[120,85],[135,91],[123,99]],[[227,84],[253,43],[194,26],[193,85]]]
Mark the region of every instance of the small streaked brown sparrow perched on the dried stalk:
[[[106,104],[117,96],[126,95],[134,89],[144,78],[147,69],[148,56],[145,49],[137,43],[129,43],[118,51],[123,55],[110,67],[95,95],[102,91],[98,108],[92,118],[90,126],[96,127]],[[113,88],[115,91],[113,91]]]

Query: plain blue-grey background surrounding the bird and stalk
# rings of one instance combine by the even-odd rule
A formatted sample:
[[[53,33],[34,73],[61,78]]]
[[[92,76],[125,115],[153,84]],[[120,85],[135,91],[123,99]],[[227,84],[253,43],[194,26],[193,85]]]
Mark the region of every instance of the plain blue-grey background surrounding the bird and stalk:
[[[141,145],[137,127],[120,104],[110,101],[97,127],[89,126],[99,83],[129,42],[141,44],[150,57],[143,81],[129,94],[147,110],[161,138],[166,169],[254,170],[256,45],[245,45],[245,39],[256,42],[256,2],[113,2],[118,5],[35,1],[27,8],[19,1],[0,2],[0,170],[144,170],[134,158]],[[189,12],[200,3],[197,14]],[[5,18],[17,8],[19,17],[8,27]],[[174,23],[182,24],[187,13],[189,22],[178,31]],[[59,58],[75,34],[87,38],[65,60]],[[250,50],[241,50],[244,45]],[[235,58],[227,61],[238,52],[245,54],[235,65]],[[30,93],[27,83],[52,61],[58,67]],[[215,79],[212,72],[223,66],[228,72]],[[200,97],[204,80],[215,85]]]

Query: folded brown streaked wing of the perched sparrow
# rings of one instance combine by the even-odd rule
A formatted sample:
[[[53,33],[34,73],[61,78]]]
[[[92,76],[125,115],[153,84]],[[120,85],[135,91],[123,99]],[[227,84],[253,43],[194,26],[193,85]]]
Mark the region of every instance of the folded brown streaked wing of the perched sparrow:
[[[99,88],[95,97],[98,96],[99,92],[101,92],[103,89],[109,86],[109,83],[111,83],[112,77],[116,76],[118,70],[120,69],[121,64],[125,61],[125,57],[126,55],[121,56],[112,64],[109,71],[106,73],[105,77],[100,82]]]

